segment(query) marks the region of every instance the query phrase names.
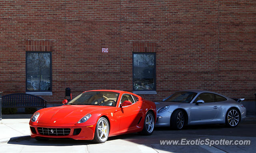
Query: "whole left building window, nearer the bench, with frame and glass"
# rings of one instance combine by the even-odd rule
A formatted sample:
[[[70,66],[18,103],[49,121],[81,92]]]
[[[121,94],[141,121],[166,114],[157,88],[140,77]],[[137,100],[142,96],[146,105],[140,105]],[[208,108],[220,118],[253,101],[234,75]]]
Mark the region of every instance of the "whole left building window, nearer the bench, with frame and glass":
[[[26,52],[26,91],[52,91],[51,66],[51,52]]]

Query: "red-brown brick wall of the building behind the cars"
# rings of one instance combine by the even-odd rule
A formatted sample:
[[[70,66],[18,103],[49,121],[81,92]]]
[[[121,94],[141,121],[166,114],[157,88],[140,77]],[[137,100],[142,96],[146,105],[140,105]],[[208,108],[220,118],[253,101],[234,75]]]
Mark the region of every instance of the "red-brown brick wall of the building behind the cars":
[[[66,87],[132,91],[133,42],[156,44],[158,94],[142,97],[207,89],[254,100],[256,92],[253,0],[0,0],[4,94],[26,91],[28,41],[51,43],[49,102],[60,103]]]

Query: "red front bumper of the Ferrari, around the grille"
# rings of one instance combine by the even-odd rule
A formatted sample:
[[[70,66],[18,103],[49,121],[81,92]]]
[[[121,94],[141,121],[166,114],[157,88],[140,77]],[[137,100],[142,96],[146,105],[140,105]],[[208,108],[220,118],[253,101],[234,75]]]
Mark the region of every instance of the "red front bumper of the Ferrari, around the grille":
[[[52,139],[70,138],[70,139],[75,139],[75,140],[92,140],[94,138],[95,126],[96,126],[95,124],[90,124],[90,125],[88,125],[88,124],[84,124],[84,125],[56,124],[53,126],[52,124],[30,123],[30,134],[31,134],[32,138],[45,137],[45,138],[49,138],[49,139],[51,139],[51,138]],[[42,127],[44,129],[60,129],[60,128],[70,129],[70,133],[67,135],[51,135],[51,133],[40,134],[38,131],[38,127]],[[78,133],[77,130],[75,130],[75,129],[81,129],[81,131]]]

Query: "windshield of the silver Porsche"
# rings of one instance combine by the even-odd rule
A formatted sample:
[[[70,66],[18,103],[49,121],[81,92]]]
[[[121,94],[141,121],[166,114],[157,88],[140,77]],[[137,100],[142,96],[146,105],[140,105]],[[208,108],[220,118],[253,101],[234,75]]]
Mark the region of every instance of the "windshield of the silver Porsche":
[[[197,93],[190,91],[178,91],[168,97],[165,101],[168,102],[179,102],[179,103],[190,103]]]

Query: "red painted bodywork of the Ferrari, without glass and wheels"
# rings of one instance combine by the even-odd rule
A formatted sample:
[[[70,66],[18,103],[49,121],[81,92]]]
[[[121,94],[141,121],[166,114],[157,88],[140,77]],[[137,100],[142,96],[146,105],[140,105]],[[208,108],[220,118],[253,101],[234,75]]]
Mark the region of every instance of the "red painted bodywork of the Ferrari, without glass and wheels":
[[[71,138],[78,140],[92,140],[94,138],[95,127],[100,117],[108,119],[110,125],[109,136],[133,133],[142,131],[144,119],[148,111],[154,113],[156,122],[156,105],[134,93],[119,90],[92,90],[92,91],[112,91],[119,93],[116,107],[100,105],[62,105],[59,107],[48,107],[40,109],[38,119],[35,122],[30,120],[30,127],[34,127],[35,132],[31,132],[31,137],[47,138]],[[135,95],[138,101],[132,105],[119,107],[120,99],[124,93]],[[90,113],[92,116],[84,123],[77,123],[84,115]],[[70,134],[64,136],[41,135],[37,127],[44,128],[70,128]],[[74,129],[81,128],[78,135],[73,135]]]

